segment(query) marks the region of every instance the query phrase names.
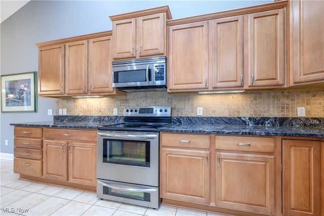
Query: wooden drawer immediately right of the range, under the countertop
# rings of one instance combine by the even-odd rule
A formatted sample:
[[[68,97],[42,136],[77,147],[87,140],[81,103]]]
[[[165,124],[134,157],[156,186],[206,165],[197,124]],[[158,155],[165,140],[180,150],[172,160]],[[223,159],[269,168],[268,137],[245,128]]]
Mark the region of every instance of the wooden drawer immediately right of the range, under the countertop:
[[[209,148],[210,136],[199,134],[161,134],[161,145],[188,148]]]

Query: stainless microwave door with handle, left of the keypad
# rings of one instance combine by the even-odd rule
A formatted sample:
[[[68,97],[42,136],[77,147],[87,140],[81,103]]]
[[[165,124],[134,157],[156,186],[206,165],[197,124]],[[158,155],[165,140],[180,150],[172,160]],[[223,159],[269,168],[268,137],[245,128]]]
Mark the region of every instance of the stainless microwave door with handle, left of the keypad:
[[[153,64],[134,64],[113,67],[113,88],[143,87],[153,85]]]

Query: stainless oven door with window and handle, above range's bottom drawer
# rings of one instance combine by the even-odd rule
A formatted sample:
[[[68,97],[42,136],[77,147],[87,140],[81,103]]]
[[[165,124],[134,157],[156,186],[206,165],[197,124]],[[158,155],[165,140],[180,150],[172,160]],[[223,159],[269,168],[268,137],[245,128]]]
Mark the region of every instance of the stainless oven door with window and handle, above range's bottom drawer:
[[[98,132],[97,179],[158,186],[158,133]]]

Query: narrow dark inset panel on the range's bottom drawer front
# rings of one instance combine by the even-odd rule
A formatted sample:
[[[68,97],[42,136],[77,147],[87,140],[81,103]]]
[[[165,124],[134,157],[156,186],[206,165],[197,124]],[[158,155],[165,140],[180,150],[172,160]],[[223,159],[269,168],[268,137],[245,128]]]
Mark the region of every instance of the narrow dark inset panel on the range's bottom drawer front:
[[[149,202],[151,199],[150,193],[122,191],[122,190],[109,188],[106,186],[103,186],[102,189],[103,189],[103,194],[107,194],[107,195],[124,197],[128,199],[136,199],[136,200],[147,201],[147,202]]]

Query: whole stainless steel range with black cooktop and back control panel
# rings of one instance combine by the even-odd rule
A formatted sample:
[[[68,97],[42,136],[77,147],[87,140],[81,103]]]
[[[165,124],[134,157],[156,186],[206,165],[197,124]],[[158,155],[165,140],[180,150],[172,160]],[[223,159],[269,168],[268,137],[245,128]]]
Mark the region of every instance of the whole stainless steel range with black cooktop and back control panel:
[[[159,133],[171,107],[126,107],[124,123],[98,128],[97,197],[158,208]]]

